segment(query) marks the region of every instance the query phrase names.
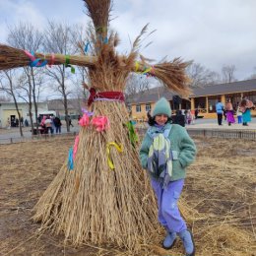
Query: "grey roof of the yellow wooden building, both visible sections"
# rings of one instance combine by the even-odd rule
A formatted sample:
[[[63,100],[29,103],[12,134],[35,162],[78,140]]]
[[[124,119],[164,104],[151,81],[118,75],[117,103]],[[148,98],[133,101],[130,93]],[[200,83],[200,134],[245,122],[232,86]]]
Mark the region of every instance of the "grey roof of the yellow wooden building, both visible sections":
[[[226,94],[243,93],[256,91],[256,79],[237,81],[228,84],[219,84],[207,86],[205,88],[194,88],[190,97],[198,96],[220,96]],[[156,102],[161,96],[166,97],[167,100],[172,100],[176,94],[170,92],[165,87],[157,87],[149,89],[143,93],[139,93],[129,99],[129,102],[136,103],[150,103]]]

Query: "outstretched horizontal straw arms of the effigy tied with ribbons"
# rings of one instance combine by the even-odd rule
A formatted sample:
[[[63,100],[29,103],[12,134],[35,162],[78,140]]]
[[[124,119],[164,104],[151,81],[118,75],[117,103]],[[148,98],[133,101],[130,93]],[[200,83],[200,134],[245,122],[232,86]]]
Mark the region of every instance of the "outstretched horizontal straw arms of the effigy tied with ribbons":
[[[109,36],[108,40],[109,43],[115,45],[118,41],[117,34],[112,34]],[[98,74],[106,75],[106,73],[112,73],[114,76],[112,81],[115,82],[116,80],[116,84],[121,85],[119,90],[124,90],[124,82],[128,74],[130,72],[136,72],[151,75],[160,80],[160,82],[168,89],[177,92],[182,96],[189,96],[190,90],[187,86],[189,80],[185,75],[185,68],[189,65],[189,62],[182,62],[179,58],[176,58],[172,62],[150,65],[143,61],[136,61],[136,55],[136,52],[132,52],[128,57],[118,56],[110,47],[104,48],[98,56],[34,53],[34,58],[32,58],[25,50],[0,44],[0,70],[8,70],[30,65],[40,67],[42,62],[48,65],[71,64],[83,66],[88,67],[91,70],[93,82],[94,77],[96,78],[96,81],[98,80]],[[34,63],[36,60],[37,62]],[[111,70],[112,72],[109,73]],[[95,74],[92,71],[95,71]],[[118,78],[119,74],[121,74],[120,78]],[[121,81],[122,83],[120,83]],[[108,85],[95,87],[99,91],[110,90]],[[116,85],[114,85],[114,87],[116,88]]]

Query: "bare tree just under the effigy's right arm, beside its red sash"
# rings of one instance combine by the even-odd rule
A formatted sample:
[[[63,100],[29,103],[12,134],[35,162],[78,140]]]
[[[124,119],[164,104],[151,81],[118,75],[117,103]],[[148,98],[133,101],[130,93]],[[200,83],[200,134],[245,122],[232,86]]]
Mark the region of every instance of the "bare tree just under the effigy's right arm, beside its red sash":
[[[126,103],[129,103],[130,100],[137,94],[143,94],[149,89],[150,83],[145,75],[129,75],[125,89]]]

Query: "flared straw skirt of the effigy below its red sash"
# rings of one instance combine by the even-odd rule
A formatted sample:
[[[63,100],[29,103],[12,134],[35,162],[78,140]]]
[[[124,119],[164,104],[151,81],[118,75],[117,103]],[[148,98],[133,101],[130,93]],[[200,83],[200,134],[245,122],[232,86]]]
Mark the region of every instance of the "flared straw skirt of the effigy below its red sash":
[[[157,228],[154,194],[128,141],[124,103],[97,101],[95,111],[109,117],[110,129],[81,129],[74,169],[64,163],[36,204],[33,219],[64,232],[75,245],[87,241],[139,250]],[[107,165],[107,142],[123,145],[122,153],[111,150],[114,170]]]

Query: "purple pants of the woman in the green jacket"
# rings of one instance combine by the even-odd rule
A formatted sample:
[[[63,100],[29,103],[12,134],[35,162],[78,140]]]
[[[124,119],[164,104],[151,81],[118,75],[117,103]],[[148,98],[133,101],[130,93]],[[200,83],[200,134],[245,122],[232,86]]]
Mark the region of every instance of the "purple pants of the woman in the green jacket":
[[[187,225],[180,216],[177,202],[184,185],[184,179],[171,181],[163,189],[160,182],[152,179],[152,186],[158,198],[159,222],[168,231],[180,232]]]

